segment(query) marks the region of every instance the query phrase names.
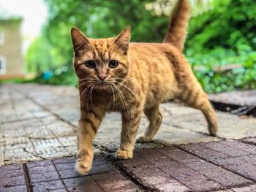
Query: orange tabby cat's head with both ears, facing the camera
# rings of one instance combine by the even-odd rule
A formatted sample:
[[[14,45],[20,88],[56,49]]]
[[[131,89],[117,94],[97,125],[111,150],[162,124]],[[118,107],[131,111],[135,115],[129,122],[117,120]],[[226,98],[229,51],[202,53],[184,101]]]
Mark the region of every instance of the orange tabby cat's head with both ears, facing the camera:
[[[77,28],[71,30],[74,47],[74,67],[80,83],[94,88],[110,88],[127,77],[130,28],[125,28],[117,37],[91,39]]]

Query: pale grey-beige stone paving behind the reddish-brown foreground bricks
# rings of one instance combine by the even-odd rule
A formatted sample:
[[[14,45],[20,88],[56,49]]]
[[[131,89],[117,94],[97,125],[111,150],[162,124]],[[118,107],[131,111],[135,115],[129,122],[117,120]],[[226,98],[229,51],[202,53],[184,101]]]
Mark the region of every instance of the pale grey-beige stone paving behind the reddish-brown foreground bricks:
[[[6,115],[0,114],[0,118],[9,117],[14,120],[12,123],[4,123],[3,125],[4,142],[9,143],[7,148],[14,145],[12,147],[17,150],[13,153],[11,150],[7,150],[8,153],[6,154],[10,153],[10,155],[4,157],[0,155],[0,164],[75,155],[77,143],[75,126],[77,126],[79,116],[79,99],[76,88],[35,84],[6,85],[2,92],[2,100],[0,100],[4,104],[12,101],[12,105],[15,106],[15,110],[9,107]],[[16,94],[17,92],[19,94]],[[12,99],[10,99],[10,95]],[[61,99],[59,99],[60,96]],[[8,108],[8,105],[5,106]],[[162,104],[161,110],[163,124],[154,137],[156,142],[136,144],[136,148],[218,140],[201,134],[208,131],[206,120],[199,111],[172,103]],[[49,111],[55,113],[59,118],[53,116]],[[219,127],[221,127],[220,136],[223,134],[227,138],[233,138],[234,135],[241,138],[248,135],[249,137],[256,136],[256,132],[254,132],[255,119],[243,120],[222,112],[218,112],[218,118]],[[19,121],[15,122],[18,119]],[[63,119],[69,123],[64,122]],[[232,128],[230,124],[233,125]],[[140,123],[140,134],[143,133],[147,125],[148,120],[143,115]],[[238,127],[243,128],[238,130]],[[120,140],[120,131],[120,115],[117,113],[108,114],[99,128],[95,143],[107,147],[108,150],[116,150]],[[27,152],[18,147],[18,144],[28,142],[34,145],[34,148],[26,147],[28,148]]]

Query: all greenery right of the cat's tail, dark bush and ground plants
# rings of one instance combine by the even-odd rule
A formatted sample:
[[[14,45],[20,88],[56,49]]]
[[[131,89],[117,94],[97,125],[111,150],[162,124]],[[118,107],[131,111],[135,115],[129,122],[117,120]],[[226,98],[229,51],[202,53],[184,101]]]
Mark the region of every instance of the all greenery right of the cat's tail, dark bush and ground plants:
[[[214,9],[192,18],[186,55],[205,66],[195,72],[208,93],[256,88],[256,4],[251,0],[214,0]],[[213,66],[241,64],[241,69],[214,72]]]

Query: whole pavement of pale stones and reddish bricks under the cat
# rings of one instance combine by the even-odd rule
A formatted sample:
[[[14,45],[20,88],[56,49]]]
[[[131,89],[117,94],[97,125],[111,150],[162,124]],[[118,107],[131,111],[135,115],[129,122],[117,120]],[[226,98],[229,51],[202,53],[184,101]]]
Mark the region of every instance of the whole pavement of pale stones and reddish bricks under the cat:
[[[0,85],[0,191],[256,191],[255,118],[218,112],[219,135],[210,137],[200,112],[162,104],[154,142],[116,161],[121,120],[109,114],[94,167],[81,177],[73,169],[78,107],[72,87]]]

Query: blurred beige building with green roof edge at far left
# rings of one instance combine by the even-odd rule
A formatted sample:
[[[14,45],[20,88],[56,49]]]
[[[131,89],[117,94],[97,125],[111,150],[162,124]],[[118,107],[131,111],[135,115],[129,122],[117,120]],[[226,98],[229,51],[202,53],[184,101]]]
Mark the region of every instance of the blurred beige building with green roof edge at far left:
[[[21,18],[0,18],[0,80],[24,77]]]

